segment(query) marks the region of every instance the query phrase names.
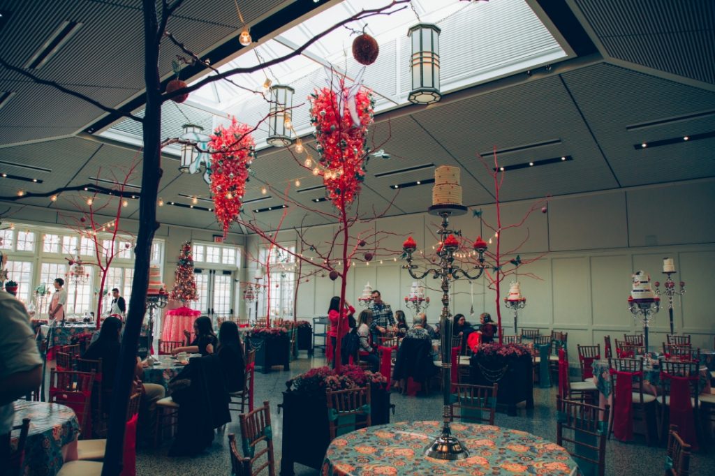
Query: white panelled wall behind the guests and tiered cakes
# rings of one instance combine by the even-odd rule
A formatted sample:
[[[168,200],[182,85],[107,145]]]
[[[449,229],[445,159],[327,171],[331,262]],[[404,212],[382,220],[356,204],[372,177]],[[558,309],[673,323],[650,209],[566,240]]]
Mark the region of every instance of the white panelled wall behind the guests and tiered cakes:
[[[503,204],[503,226],[520,220],[531,204]],[[682,299],[676,297],[674,303],[676,332],[693,334],[695,345],[712,348],[715,319],[709,292],[715,285],[714,207],[712,179],[553,197],[547,214],[537,211],[523,227],[502,234],[502,249],[508,250],[523,241],[528,229],[528,242],[521,257],[528,259],[546,253],[520,269],[520,273],[533,273],[540,279],[519,278],[527,297],[526,308],[519,312],[519,327],[567,331],[572,349],[577,343],[602,345],[606,334],[620,338],[623,333],[636,332],[641,327],[626,304],[631,273],[644,269],[653,281],[663,281],[662,258],[667,256],[675,259],[676,282],[682,279],[687,283],[686,294]],[[485,219],[493,222],[493,205],[483,210]],[[425,252],[428,252],[436,242],[437,222],[428,214],[413,214],[380,219],[374,226],[411,235],[420,247],[427,244]],[[472,214],[453,219],[453,224],[469,239],[475,239],[480,232],[479,219]],[[489,234],[486,229],[483,231]],[[310,232],[326,236],[332,227],[313,227]],[[289,237],[288,232],[282,232],[281,241]],[[404,239],[390,237],[385,244],[400,249]],[[249,237],[247,247],[255,247],[256,242],[255,237]],[[393,309],[405,309],[403,299],[413,279],[400,268],[403,262],[399,254],[394,257],[398,257],[398,262],[384,257],[383,264],[380,258],[369,266],[356,263],[347,282],[347,299],[355,303],[369,281],[380,289]],[[502,283],[502,292],[508,291],[508,281]],[[339,283],[328,277],[311,277],[309,282],[301,283],[298,316],[325,315],[330,297],[340,291]],[[437,322],[441,294],[436,290],[435,280],[428,279],[427,284],[435,289],[428,290],[432,301],[427,309],[428,320]],[[473,297],[469,282],[460,280],[453,289],[453,312],[467,314],[473,322],[480,312],[490,312],[495,317],[495,293],[485,289],[485,279],[473,282]],[[475,314],[469,317],[472,300]],[[513,312],[503,306],[501,312],[505,334],[513,334]],[[651,327],[651,343],[665,340],[667,329],[668,309],[664,304]]]

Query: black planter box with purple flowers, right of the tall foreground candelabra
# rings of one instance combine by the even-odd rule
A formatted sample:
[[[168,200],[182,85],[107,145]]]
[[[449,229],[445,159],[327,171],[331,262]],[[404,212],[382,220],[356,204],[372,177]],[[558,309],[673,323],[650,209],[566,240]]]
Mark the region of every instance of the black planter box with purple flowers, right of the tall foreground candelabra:
[[[498,369],[493,368],[493,365],[485,365],[483,367],[490,373],[490,378],[484,375],[482,369],[478,365],[477,355],[473,355],[469,362],[470,367],[470,383],[472,385],[499,385],[497,404],[506,405],[507,414],[510,416],[516,415],[516,404],[526,402],[527,408],[533,408],[533,369],[531,365],[531,355],[523,355],[516,359],[510,360],[506,372],[503,372],[501,378],[493,380],[495,374],[498,374]],[[493,371],[493,372],[491,372]]]

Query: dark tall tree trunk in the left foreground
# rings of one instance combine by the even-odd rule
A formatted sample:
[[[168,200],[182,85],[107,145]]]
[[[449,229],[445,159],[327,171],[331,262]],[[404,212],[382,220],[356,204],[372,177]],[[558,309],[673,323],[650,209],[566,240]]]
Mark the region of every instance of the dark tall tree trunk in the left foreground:
[[[159,91],[159,42],[157,11],[154,0],[142,0],[144,9],[144,80],[147,85],[147,109],[144,114],[144,155],[142,163],[142,196],[139,199],[139,233],[134,250],[134,281],[129,300],[129,314],[124,328],[119,367],[114,378],[112,411],[109,417],[107,451],[102,476],[117,476],[122,471],[124,425],[129,395],[134,382],[139,332],[147,309],[149,262],[157,223],[157,194],[161,170],[161,95]],[[151,346],[151,342],[149,343]]]

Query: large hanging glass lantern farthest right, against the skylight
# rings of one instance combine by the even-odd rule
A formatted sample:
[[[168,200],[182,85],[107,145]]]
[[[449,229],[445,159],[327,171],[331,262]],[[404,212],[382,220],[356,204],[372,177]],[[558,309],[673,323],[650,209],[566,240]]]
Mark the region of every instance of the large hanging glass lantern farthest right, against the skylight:
[[[415,104],[432,104],[440,93],[440,28],[429,23],[416,24],[408,31],[412,41],[412,90],[408,99]]]

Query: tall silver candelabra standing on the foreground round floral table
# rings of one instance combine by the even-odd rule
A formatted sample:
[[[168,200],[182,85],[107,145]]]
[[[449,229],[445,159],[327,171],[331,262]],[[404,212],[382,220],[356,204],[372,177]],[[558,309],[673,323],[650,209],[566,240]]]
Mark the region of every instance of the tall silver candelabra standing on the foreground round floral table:
[[[412,254],[417,249],[417,244],[412,237],[408,238],[403,244],[405,250],[405,258],[408,264],[403,265],[403,269],[407,269],[410,276],[418,281],[424,277],[431,275],[434,279],[441,279],[442,284],[442,314],[440,315],[440,334],[442,337],[442,390],[443,390],[443,426],[441,434],[425,448],[425,456],[433,457],[438,460],[461,460],[469,456],[465,447],[459,440],[452,436],[450,430],[450,397],[452,389],[452,319],[449,312],[449,287],[450,279],[478,279],[484,272],[484,257],[486,251],[486,243],[478,239],[474,244],[474,249],[479,254],[479,265],[475,266],[478,272],[475,276],[470,275],[464,269],[454,263],[454,252],[459,248],[459,242],[454,237],[454,234],[460,234],[449,229],[450,217],[465,214],[467,207],[459,205],[433,205],[428,209],[428,212],[442,218],[440,229],[437,233],[440,235],[442,245],[437,250],[440,258],[439,267],[425,269],[424,272],[418,272],[418,266],[413,264]]]

